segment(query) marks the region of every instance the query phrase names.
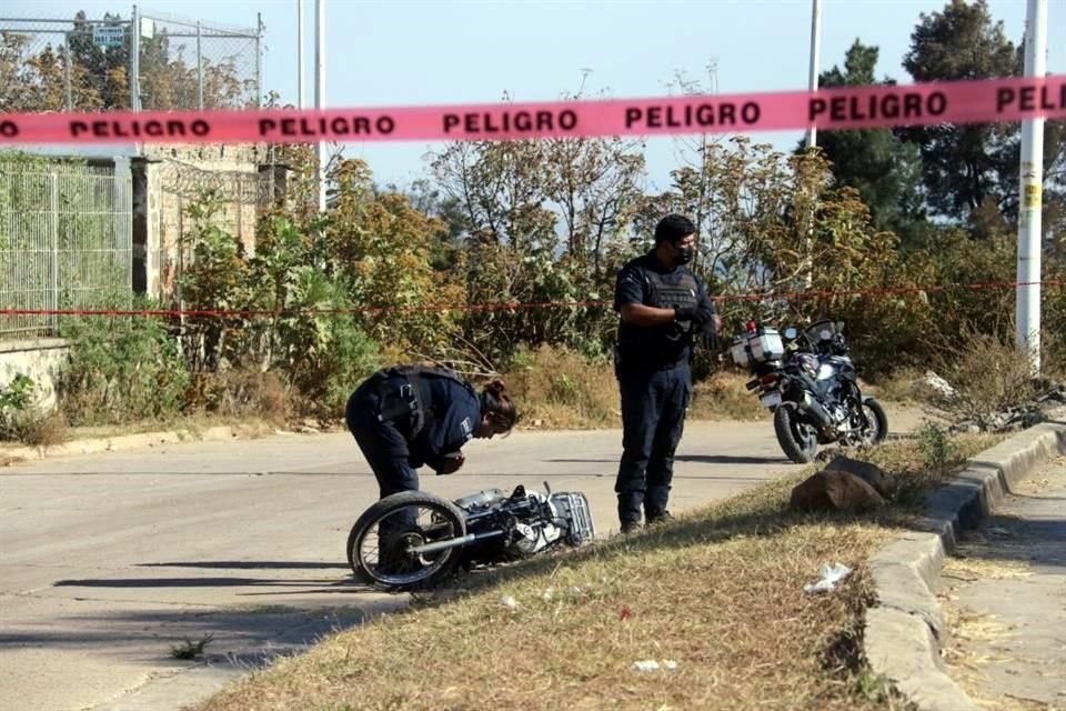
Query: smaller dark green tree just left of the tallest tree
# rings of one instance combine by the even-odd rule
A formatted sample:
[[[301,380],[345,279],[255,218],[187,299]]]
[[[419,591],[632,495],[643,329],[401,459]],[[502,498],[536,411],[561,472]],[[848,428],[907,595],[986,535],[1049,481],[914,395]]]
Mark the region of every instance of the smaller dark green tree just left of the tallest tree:
[[[834,66],[822,72],[818,84],[894,84],[892,79],[877,81],[877,57],[876,47],[856,39],[847,50],[844,68]],[[891,129],[862,129],[819,132],[818,148],[833,163],[836,184],[858,191],[869,208],[874,227],[892,230],[906,242],[915,222],[924,217],[918,147],[901,140]],[[803,146],[797,150],[804,150]]]

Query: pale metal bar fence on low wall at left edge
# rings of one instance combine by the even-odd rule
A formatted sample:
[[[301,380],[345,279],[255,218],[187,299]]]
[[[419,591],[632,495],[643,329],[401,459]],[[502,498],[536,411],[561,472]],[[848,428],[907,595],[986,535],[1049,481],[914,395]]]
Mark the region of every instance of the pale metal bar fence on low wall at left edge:
[[[82,164],[0,166],[0,339],[53,336],[57,316],[129,304],[129,170]]]

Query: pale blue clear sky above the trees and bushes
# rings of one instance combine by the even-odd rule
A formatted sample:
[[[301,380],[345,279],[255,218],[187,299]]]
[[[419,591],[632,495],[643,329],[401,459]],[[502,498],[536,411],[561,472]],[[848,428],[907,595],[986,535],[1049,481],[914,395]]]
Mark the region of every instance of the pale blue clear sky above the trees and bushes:
[[[879,77],[909,82],[902,67],[922,12],[947,0],[823,0],[821,69],[842,64],[856,39],[881,48]],[[1066,0],[1047,0],[1047,69],[1066,73]],[[3,0],[4,18],[129,17],[110,0]],[[613,98],[665,96],[681,72],[707,91],[805,89],[812,0],[324,0],[325,106],[391,107],[557,99],[584,88]],[[1020,42],[1025,0],[988,0],[1008,39]],[[314,7],[304,0],[305,96],[313,106]],[[147,0],[142,13],[265,28],[264,90],[296,102],[296,0]],[[708,72],[710,66],[716,71]],[[792,150],[802,131],[753,133]],[[349,143],[380,183],[424,176],[440,143]],[[680,146],[646,143],[648,190],[665,190]]]

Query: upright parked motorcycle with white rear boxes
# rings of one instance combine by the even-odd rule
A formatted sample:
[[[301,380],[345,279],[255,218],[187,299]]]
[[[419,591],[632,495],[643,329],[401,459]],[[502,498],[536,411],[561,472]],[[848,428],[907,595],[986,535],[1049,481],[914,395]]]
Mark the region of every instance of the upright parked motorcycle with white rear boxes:
[[[879,444],[887,437],[884,408],[858,387],[843,322],[778,332],[750,321],[730,353],[755,375],[747,389],[774,413],[777,442],[792,461],[809,462],[819,444]]]

